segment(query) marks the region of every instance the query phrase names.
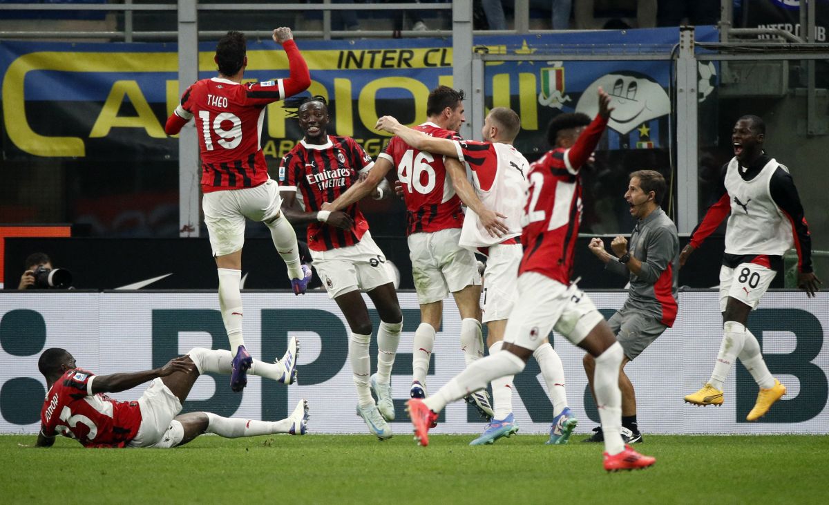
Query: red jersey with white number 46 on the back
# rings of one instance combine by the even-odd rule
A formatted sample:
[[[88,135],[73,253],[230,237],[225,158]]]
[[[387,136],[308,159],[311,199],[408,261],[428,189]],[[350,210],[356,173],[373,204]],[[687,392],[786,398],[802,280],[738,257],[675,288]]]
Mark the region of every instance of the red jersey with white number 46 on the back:
[[[462,140],[456,132],[434,123],[424,123],[414,129],[431,137]],[[391,138],[380,157],[395,166],[403,185],[406,235],[463,226],[461,200],[455,194],[452,179],[447,177],[443,157],[411,148],[398,137]]]

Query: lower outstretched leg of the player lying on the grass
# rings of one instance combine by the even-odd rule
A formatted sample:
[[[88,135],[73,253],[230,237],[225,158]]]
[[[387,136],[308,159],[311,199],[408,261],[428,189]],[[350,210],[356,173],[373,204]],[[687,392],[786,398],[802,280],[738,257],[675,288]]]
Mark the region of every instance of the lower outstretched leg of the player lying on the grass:
[[[189,412],[177,415],[174,421],[181,423],[184,430],[181,447],[192,439],[205,433],[213,433],[225,439],[255,437],[259,435],[305,435],[308,431],[308,402],[300,400],[291,415],[284,420],[264,421],[241,418],[228,418],[211,412]]]

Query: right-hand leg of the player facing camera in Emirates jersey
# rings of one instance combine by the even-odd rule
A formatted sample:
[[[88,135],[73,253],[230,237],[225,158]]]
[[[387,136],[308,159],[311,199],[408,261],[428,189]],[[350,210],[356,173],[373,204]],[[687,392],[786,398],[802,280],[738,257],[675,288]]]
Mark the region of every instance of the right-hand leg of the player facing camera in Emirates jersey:
[[[377,328],[377,373],[372,375],[369,386],[377,396],[377,409],[387,421],[395,420],[395,403],[391,395],[391,369],[395,365],[397,347],[400,345],[400,331],[403,329],[403,313],[397,301],[394,284],[383,284],[366,292],[377,314],[380,328]]]

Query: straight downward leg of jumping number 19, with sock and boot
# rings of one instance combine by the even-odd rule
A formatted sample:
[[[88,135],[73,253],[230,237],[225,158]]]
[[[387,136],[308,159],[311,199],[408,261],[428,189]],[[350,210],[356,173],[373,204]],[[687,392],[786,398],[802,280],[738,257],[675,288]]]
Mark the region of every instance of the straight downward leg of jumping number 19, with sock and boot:
[[[233,352],[233,373],[230,375],[230,389],[239,392],[248,384],[247,371],[253,359],[245,348],[242,336],[242,250],[229,255],[216,256],[219,273],[219,307],[221,320]]]

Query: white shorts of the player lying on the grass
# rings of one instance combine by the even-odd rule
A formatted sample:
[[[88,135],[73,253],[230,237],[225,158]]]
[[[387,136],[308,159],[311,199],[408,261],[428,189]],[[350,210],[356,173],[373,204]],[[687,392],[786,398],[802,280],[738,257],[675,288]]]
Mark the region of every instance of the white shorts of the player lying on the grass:
[[[181,443],[184,428],[182,423],[173,418],[182,411],[182,402],[178,401],[178,397],[172,394],[160,378],[150,382],[150,386],[138,398],[138,406],[141,408],[141,426],[128,447],[169,449]]]

